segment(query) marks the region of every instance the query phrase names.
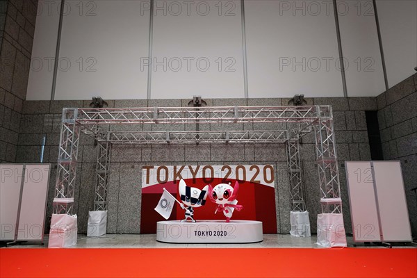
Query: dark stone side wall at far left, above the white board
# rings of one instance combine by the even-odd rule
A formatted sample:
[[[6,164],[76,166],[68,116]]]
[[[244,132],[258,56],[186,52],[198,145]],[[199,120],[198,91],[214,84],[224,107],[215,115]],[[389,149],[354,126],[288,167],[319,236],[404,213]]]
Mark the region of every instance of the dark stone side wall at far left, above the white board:
[[[38,0],[0,1],[0,162],[15,162]]]

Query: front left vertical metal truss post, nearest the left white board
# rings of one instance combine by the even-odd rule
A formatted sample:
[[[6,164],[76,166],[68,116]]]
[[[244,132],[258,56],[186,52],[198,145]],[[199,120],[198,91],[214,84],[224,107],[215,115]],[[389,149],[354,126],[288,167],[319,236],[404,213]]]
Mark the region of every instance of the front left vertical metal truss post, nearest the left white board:
[[[78,108],[63,108],[60,131],[56,187],[54,196],[55,214],[72,214],[76,183],[76,162],[79,152],[80,128],[76,124]]]

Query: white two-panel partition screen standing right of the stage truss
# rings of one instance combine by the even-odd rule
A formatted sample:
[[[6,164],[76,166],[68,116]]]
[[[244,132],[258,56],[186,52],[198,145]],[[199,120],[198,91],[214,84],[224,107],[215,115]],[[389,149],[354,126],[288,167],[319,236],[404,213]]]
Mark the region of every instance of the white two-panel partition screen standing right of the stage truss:
[[[354,241],[411,241],[400,161],[345,165]]]

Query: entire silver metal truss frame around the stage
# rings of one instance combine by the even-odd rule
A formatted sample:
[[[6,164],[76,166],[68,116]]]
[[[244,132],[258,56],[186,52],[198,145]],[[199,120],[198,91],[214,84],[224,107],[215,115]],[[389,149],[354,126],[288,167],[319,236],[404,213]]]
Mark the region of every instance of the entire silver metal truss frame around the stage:
[[[270,131],[108,131],[124,124],[233,124],[286,123]],[[168,126],[168,125],[167,125]],[[124,130],[129,130],[125,128]],[[300,138],[315,131],[322,213],[341,213],[340,185],[331,106],[227,106],[64,108],[61,127],[54,213],[72,213],[79,134],[87,133],[99,145],[95,183],[95,210],[107,209],[108,169],[112,145],[185,143],[286,143],[291,210],[305,211],[300,163]]]

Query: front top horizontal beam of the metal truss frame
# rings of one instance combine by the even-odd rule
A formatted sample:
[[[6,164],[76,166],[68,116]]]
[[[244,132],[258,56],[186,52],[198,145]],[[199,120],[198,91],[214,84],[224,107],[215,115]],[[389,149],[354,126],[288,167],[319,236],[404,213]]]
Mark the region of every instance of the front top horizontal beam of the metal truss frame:
[[[91,124],[181,124],[241,122],[311,122],[316,106],[227,106],[79,108],[77,122]]]

